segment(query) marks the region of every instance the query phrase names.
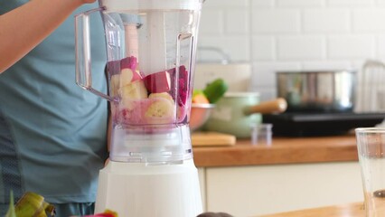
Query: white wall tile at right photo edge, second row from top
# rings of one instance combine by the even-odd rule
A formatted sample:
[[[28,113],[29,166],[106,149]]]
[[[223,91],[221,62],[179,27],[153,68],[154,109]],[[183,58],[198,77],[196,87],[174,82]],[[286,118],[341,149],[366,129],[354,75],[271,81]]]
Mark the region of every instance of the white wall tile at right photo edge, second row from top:
[[[352,28],[358,33],[385,33],[385,8],[352,11]]]

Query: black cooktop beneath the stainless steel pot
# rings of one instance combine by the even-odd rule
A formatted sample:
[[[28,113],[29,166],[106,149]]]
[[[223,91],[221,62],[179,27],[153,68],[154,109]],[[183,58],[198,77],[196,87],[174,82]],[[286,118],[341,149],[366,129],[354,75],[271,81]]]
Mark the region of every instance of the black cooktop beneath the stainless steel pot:
[[[374,127],[385,113],[291,113],[263,115],[264,123],[273,124],[275,136],[311,137],[346,134],[356,127]]]

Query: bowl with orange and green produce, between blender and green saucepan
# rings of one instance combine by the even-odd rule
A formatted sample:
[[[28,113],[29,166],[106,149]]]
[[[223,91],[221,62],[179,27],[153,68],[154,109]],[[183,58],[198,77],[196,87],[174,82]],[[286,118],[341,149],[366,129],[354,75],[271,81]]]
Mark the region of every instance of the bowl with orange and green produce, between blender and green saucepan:
[[[228,90],[224,80],[217,79],[209,83],[204,90],[193,90],[190,128],[192,131],[201,128],[211,116],[211,111]]]

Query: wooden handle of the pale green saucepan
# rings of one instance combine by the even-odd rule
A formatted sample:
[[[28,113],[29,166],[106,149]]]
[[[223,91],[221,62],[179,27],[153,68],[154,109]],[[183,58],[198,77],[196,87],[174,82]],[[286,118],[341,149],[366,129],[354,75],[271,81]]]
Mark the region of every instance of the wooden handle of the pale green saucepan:
[[[243,110],[245,115],[251,115],[253,113],[272,114],[282,113],[287,109],[286,99],[277,98],[270,101],[261,102],[256,106],[247,107]]]

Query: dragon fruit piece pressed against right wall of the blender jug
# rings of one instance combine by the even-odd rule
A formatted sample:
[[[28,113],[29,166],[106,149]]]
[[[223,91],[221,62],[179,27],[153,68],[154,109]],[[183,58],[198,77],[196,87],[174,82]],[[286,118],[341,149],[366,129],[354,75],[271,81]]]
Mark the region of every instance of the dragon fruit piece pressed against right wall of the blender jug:
[[[176,77],[176,71],[175,69],[172,69],[169,71],[170,76],[174,79]],[[171,82],[171,96],[175,97],[175,91],[176,88],[174,87],[175,82]],[[187,96],[189,92],[189,72],[186,70],[184,66],[179,67],[179,80],[178,80],[178,90],[177,93],[177,99],[175,101],[178,102],[179,106],[183,106],[186,104]]]

